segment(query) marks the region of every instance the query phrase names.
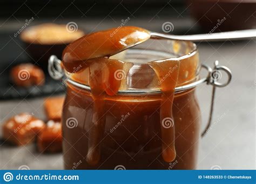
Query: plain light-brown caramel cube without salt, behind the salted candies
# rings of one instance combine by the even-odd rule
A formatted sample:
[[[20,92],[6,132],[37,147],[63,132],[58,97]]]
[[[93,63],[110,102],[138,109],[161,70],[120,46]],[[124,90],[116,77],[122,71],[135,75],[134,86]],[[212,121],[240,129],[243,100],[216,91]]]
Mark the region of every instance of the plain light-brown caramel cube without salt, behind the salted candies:
[[[44,109],[49,120],[60,122],[64,97],[51,97],[44,101]]]

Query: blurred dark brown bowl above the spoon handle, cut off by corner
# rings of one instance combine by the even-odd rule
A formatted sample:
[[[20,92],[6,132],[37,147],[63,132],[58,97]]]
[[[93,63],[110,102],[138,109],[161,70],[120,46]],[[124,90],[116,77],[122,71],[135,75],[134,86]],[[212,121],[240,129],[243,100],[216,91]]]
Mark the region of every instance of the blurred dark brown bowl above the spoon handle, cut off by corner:
[[[255,0],[188,0],[191,15],[207,32],[256,27]]]

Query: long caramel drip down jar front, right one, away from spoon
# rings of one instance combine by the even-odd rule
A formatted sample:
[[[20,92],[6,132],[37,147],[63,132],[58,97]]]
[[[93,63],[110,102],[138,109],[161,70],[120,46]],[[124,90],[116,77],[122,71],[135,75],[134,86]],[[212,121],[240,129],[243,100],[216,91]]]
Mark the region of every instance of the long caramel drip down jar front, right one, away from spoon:
[[[176,158],[172,104],[178,81],[179,61],[165,60],[152,62],[150,65],[158,76],[162,91],[160,106],[162,157],[166,162],[171,162]]]

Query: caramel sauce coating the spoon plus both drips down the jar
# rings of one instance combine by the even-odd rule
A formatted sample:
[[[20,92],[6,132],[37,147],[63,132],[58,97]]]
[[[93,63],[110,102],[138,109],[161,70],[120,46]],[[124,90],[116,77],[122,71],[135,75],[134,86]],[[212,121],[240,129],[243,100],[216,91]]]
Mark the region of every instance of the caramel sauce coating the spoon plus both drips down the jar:
[[[89,165],[97,165],[100,160],[100,144],[106,122],[107,96],[116,95],[122,80],[117,79],[116,72],[123,70],[129,73],[130,67],[124,67],[123,61],[110,59],[111,55],[117,54],[129,47],[140,44],[150,38],[150,33],[139,27],[124,26],[120,29],[110,29],[86,35],[70,45],[63,52],[63,67],[72,77],[79,76],[89,68],[89,84],[93,99],[93,112],[91,128],[89,130],[88,148],[86,161]],[[79,71],[74,72],[74,68],[81,66]],[[174,118],[172,115],[172,104],[174,89],[177,86],[180,61],[163,60],[151,62],[150,67],[157,74],[158,80],[163,79],[172,68],[172,73],[161,81],[162,91],[160,100],[160,123],[161,123],[161,155],[165,162],[171,162],[176,158]],[[84,76],[84,78],[86,78]],[[78,102],[79,103],[79,102]],[[145,107],[146,108],[146,107]],[[167,125],[166,122],[167,121]]]

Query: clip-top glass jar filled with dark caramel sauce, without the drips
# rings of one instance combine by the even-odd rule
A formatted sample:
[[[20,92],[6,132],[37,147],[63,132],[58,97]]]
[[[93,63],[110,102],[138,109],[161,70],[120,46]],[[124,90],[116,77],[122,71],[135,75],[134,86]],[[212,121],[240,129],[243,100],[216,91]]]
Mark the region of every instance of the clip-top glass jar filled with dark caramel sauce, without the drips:
[[[149,40],[111,58],[129,61],[133,66],[118,71],[121,86],[116,95],[105,97],[104,123],[97,129],[92,123],[95,112],[88,70],[76,74],[64,71],[67,77],[62,118],[65,169],[195,169],[201,125],[196,86],[202,82],[219,84],[212,80],[211,68],[207,68],[206,78],[199,78],[201,65],[196,45],[189,41]],[[159,115],[160,85],[177,68],[170,67],[169,72],[159,78],[150,67],[152,61],[158,60],[179,61],[173,119],[164,122]],[[58,67],[52,72],[55,61]],[[61,61],[50,58],[49,62],[50,74],[62,77]],[[174,129],[176,150],[171,162],[163,159],[166,143],[161,133],[169,128]],[[88,157],[99,159],[92,162]]]

